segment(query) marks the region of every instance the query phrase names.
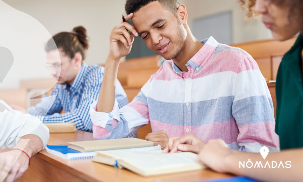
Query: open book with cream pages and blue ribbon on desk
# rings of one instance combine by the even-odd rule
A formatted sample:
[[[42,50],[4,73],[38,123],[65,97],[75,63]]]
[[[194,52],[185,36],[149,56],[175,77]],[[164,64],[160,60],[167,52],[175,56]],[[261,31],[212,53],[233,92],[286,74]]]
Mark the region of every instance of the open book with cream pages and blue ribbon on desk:
[[[196,162],[197,155],[191,152],[163,154],[153,151],[97,151],[93,161],[124,167],[142,176],[159,175],[190,170],[204,169]]]

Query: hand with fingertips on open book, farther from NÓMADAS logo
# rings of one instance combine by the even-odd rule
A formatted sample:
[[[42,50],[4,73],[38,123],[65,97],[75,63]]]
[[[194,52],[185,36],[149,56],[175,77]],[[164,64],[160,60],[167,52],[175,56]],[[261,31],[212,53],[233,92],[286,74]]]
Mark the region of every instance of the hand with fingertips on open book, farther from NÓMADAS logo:
[[[169,138],[168,145],[163,153],[176,153],[178,151],[199,153],[205,143],[192,133],[184,136],[175,136]]]

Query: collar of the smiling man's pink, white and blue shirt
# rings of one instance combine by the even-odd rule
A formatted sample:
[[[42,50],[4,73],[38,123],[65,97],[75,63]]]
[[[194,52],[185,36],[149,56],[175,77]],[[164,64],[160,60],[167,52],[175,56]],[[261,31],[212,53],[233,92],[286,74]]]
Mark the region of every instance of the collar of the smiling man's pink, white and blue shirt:
[[[204,43],[203,47],[186,63],[186,66],[192,67],[195,72],[199,72],[201,68],[207,63],[214,51],[216,50],[219,42],[212,36],[206,38],[201,43]],[[174,72],[182,77],[182,71],[172,62]]]

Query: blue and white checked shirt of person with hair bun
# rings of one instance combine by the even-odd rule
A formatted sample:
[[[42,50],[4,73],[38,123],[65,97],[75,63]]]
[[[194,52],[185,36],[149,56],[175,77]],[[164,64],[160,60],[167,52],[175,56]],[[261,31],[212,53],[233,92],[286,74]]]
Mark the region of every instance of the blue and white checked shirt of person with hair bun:
[[[98,98],[103,75],[104,67],[83,63],[72,85],[57,84],[51,97],[43,98],[42,102],[30,107],[27,112],[43,123],[77,123],[77,129],[91,132],[89,106]],[[116,100],[119,108],[128,104],[124,89],[118,80]],[[60,114],[62,110],[64,114]]]

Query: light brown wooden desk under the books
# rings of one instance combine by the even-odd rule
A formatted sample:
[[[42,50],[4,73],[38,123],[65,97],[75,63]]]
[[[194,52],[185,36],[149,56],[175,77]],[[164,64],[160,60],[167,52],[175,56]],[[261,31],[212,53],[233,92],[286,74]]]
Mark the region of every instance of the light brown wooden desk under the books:
[[[67,145],[67,142],[93,140],[92,133],[52,133],[49,145]],[[27,172],[18,181],[199,181],[230,177],[212,170],[197,170],[153,177],[142,177],[126,169],[117,169],[91,159],[65,160],[45,150],[31,160]]]

